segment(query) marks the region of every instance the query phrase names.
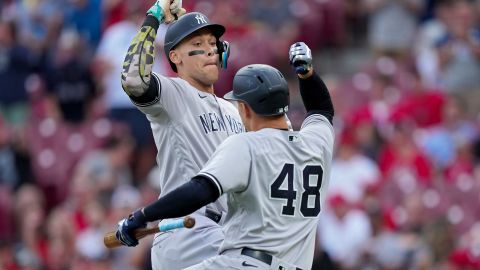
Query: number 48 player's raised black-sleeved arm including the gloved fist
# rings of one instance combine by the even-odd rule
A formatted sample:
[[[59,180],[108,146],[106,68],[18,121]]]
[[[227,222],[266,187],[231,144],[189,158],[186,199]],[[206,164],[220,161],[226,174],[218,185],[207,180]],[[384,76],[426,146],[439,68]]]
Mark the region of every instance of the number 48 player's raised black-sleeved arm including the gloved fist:
[[[310,48],[303,42],[297,42],[290,47],[289,58],[298,75],[300,95],[307,116],[321,114],[332,123],[334,115],[332,99],[327,86],[313,70]]]

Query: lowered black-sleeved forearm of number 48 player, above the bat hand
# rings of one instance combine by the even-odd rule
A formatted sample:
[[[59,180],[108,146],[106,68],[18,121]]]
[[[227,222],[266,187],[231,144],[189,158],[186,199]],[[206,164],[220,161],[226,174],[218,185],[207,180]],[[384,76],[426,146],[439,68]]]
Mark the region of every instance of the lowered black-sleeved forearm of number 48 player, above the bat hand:
[[[211,180],[199,177],[158,199],[143,209],[146,221],[183,217],[218,199]]]

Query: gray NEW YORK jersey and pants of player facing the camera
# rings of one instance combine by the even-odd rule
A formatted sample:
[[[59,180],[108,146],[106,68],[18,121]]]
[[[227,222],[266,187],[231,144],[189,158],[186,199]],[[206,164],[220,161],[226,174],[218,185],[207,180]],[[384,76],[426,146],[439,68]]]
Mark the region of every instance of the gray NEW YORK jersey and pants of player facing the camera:
[[[161,197],[195,176],[217,146],[228,136],[244,132],[244,127],[230,102],[200,92],[183,79],[153,76],[160,86],[158,100],[137,107],[150,121],[157,146]],[[226,211],[225,196],[208,207]],[[197,211],[195,230],[156,237],[153,269],[183,269],[217,254],[223,232],[218,224],[200,216],[204,211]]]

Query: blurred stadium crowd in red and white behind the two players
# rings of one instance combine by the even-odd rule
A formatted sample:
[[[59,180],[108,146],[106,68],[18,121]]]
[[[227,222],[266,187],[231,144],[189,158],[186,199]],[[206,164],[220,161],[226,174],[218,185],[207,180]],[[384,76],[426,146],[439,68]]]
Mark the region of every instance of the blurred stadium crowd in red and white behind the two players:
[[[480,1],[184,0],[242,66],[289,78],[306,42],[337,140],[312,269],[480,269]],[[161,192],[150,126],[120,86],[152,1],[0,1],[0,269],[151,269],[103,234]],[[175,75],[159,30],[155,71]],[[161,161],[160,161],[161,162]]]

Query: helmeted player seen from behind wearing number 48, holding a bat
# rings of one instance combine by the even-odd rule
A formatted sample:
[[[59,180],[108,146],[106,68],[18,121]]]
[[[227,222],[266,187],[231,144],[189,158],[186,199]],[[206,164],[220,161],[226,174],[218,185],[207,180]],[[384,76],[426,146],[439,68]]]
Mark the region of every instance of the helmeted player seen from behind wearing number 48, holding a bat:
[[[334,132],[329,92],[312,68],[305,43],[290,48],[307,110],[300,131],[289,131],[288,85],[267,65],[240,69],[226,99],[238,101],[248,131],[227,138],[189,182],[119,223],[125,245],[146,222],[179,217],[228,194],[220,255],[188,268],[310,269],[318,215],[330,176]],[[188,252],[188,250],[185,250]]]

